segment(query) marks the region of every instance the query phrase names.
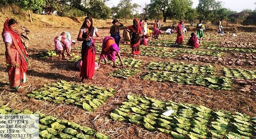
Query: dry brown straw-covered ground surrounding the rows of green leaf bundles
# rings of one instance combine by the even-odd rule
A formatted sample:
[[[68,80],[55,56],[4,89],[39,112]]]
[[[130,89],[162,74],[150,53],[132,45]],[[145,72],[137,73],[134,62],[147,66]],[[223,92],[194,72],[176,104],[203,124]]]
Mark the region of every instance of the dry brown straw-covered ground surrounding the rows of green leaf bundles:
[[[26,96],[26,94],[37,90],[43,84],[49,84],[59,80],[80,83],[81,80],[79,77],[80,72],[76,70],[73,62],[63,61],[57,57],[42,59],[36,55],[42,51],[46,51],[47,49],[54,49],[54,37],[63,31],[68,31],[72,35],[72,39],[75,39],[79,31],[78,28],[42,28],[31,29],[30,31],[30,67],[29,71],[27,72],[28,84],[30,87],[20,94],[12,93],[13,91],[10,91],[8,86],[8,75],[5,67],[4,54],[5,46],[1,39],[0,48],[2,51],[0,52],[0,57],[2,61],[0,62],[0,105],[7,105],[8,107],[19,110],[27,108],[34,112],[41,111],[42,113],[56,116],[57,118],[65,118],[83,126],[94,128],[105,135],[109,135],[111,138],[172,138],[170,135],[161,132],[149,132],[142,126],[111,120],[109,116],[110,113],[126,100],[126,96],[128,94],[146,95],[158,100],[171,100],[178,103],[204,105],[215,111],[225,110],[231,111],[232,113],[240,112],[242,114],[256,116],[255,90],[250,89],[255,85],[255,80],[237,81],[234,83],[233,91],[211,90],[210,88],[196,85],[144,81],[140,78],[142,75],[141,73],[138,73],[135,76],[129,77],[127,80],[125,80],[109,75],[110,72],[117,70],[116,68],[111,67],[112,63],[101,65],[101,68],[95,71],[94,80],[86,80],[86,84],[114,88],[117,91],[113,97],[110,97],[106,103],[104,103],[94,112],[86,112],[81,107],[76,107],[75,105],[57,105],[45,101],[30,99]],[[108,33],[109,30],[107,29],[99,29],[99,34],[102,36],[102,38],[107,36]],[[209,44],[218,44],[222,47],[243,47],[256,49],[255,33],[236,33],[237,37],[233,37],[232,35],[233,33],[220,36],[220,34],[206,32],[205,37],[203,38],[204,43],[199,50],[206,49]],[[189,36],[190,33],[186,33],[184,43],[187,42]],[[176,34],[172,36],[163,35],[161,39],[169,38],[170,42],[174,43],[175,37]],[[102,42],[97,41],[96,43],[101,44]],[[121,40],[120,44],[122,43],[123,42]],[[75,47],[81,47],[81,42],[77,42]],[[129,45],[125,45],[123,47],[127,47],[129,49]],[[170,48],[170,51],[172,49],[174,48]],[[208,51],[215,50],[208,49]],[[80,55],[80,50],[74,49],[73,52],[76,55]],[[216,57],[201,55],[195,56],[193,54],[181,54],[174,58],[148,56],[139,56],[136,58],[143,61],[143,66],[141,67],[142,72],[145,71],[143,67],[152,61],[184,62],[197,65],[211,64],[216,68],[216,75],[222,74],[221,70],[223,67],[255,70],[256,59],[253,58],[256,56],[255,53],[252,53],[252,56],[248,54],[248,58],[243,52],[223,52],[224,55],[221,57],[222,60],[218,58],[216,59]],[[128,53],[121,52],[121,56],[123,58],[131,58]],[[96,53],[96,57],[99,57],[99,52]],[[240,59],[240,61],[244,63],[235,63],[237,62],[237,59]],[[249,60],[254,62],[254,64],[250,65],[246,63]],[[118,67],[120,68],[121,66],[118,65]]]

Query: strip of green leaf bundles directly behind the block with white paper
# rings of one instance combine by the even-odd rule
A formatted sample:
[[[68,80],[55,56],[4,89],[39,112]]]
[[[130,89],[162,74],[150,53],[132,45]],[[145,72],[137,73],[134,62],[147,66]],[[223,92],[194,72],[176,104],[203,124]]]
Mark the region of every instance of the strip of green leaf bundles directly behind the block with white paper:
[[[231,78],[221,76],[204,76],[187,73],[173,73],[165,71],[148,71],[143,75],[143,80],[157,82],[171,82],[188,85],[200,85],[216,90],[232,90]]]

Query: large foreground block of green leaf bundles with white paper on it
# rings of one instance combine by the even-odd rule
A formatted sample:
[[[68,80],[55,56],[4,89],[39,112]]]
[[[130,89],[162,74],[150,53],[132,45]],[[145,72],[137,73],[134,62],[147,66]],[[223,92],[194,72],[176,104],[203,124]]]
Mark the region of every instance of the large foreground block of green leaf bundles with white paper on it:
[[[256,137],[256,117],[217,111],[205,106],[159,101],[128,95],[111,114],[115,121],[143,125],[149,131],[171,134],[173,138],[250,138]],[[170,115],[163,115],[173,110]],[[254,130],[254,131],[253,131]]]

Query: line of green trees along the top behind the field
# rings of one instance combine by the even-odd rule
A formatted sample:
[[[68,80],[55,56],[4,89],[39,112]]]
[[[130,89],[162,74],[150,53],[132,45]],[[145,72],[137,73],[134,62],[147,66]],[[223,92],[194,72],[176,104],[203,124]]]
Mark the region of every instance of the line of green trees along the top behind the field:
[[[58,16],[92,16],[98,19],[119,18],[149,18],[149,19],[185,19],[194,21],[203,19],[216,23],[219,19],[229,19],[236,11],[222,7],[222,2],[216,0],[199,0],[197,8],[192,8],[191,0],[151,0],[151,3],[138,5],[131,0],[121,0],[117,6],[108,7],[109,0],[2,0],[0,6],[15,4],[21,9],[32,13]],[[244,18],[256,10],[245,9]],[[31,19],[31,16],[30,16]],[[245,18],[244,18],[245,19]],[[235,19],[233,19],[234,21]],[[243,19],[240,19],[243,20]],[[31,19],[32,21],[32,19]]]

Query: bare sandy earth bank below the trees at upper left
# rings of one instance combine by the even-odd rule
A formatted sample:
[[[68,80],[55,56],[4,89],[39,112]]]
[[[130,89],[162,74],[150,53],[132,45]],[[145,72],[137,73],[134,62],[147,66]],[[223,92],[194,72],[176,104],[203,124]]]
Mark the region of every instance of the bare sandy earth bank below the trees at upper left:
[[[7,18],[14,18],[19,23],[19,26],[26,26],[30,29],[77,28],[80,27],[84,21],[84,17],[60,17],[55,15],[32,14],[33,23],[31,23],[27,12],[21,11],[16,6],[0,8],[0,24],[3,25]],[[93,24],[105,28],[111,25],[111,19],[94,20]]]

